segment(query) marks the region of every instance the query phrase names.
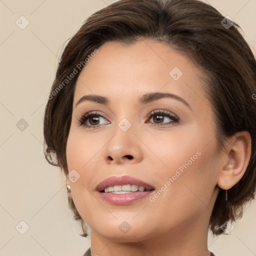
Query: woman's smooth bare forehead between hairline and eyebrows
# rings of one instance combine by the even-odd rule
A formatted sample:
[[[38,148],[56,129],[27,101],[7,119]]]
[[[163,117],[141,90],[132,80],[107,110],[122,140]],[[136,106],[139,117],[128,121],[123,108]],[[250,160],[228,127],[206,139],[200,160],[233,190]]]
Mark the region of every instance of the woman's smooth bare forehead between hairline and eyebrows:
[[[84,94],[136,103],[142,94],[156,91],[198,101],[204,98],[202,85],[201,73],[190,59],[165,43],[141,40],[124,46],[106,42],[80,72],[74,104]]]

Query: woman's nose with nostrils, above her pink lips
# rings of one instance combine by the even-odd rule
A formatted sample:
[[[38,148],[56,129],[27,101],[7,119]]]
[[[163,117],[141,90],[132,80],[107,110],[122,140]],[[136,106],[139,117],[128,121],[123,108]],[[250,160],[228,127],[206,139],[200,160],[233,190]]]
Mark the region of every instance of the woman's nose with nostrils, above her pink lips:
[[[103,153],[108,164],[137,163],[142,160],[141,142],[132,132],[121,130],[118,126],[115,133],[107,142]]]

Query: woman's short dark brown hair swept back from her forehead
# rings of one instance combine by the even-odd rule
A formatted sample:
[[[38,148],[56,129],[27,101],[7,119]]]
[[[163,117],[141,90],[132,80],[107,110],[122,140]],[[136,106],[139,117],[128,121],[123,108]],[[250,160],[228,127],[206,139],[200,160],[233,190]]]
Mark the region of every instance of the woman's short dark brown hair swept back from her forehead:
[[[224,26],[227,22],[230,27]],[[78,63],[107,41],[129,45],[148,38],[168,43],[205,75],[219,148],[236,132],[246,130],[251,135],[251,157],[244,175],[228,190],[227,201],[225,190],[219,190],[211,213],[210,230],[223,233],[221,225],[241,217],[244,204],[254,199],[256,183],[256,61],[238,31],[240,26],[230,22],[197,0],[120,0],[90,15],[65,46],[51,87],[43,129],[47,161],[68,173],[65,149],[80,70],[61,89],[59,85]],[[68,205],[86,236],[85,222],[70,197]]]

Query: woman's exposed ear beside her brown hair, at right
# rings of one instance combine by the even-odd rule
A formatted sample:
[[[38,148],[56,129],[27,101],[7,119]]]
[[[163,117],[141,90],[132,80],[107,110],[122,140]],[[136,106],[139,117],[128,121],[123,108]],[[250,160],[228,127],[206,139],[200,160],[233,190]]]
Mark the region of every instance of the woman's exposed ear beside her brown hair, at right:
[[[251,136],[248,131],[235,133],[226,145],[222,169],[219,172],[217,185],[227,190],[243,176],[251,154]]]

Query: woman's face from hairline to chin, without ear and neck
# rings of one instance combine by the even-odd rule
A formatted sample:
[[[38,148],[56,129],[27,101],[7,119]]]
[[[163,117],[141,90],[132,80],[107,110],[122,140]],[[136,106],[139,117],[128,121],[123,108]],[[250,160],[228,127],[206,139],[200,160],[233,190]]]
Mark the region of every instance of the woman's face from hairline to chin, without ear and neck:
[[[221,157],[199,71],[184,55],[151,40],[107,42],[93,55],[77,79],[66,146],[72,171],[67,183],[79,214],[91,232],[119,241],[187,228],[207,232]],[[108,103],[84,99],[76,105],[84,95]],[[86,113],[94,116],[81,119]],[[98,187],[124,175],[154,190],[97,191],[111,191],[114,183],[115,190],[143,186],[116,179]]]

